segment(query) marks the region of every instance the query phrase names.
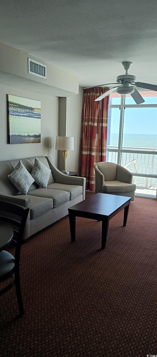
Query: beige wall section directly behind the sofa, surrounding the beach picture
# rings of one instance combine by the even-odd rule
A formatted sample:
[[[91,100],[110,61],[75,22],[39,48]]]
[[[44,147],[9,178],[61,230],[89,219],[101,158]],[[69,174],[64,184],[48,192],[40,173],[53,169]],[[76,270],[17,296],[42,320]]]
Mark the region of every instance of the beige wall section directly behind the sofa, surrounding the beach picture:
[[[7,94],[41,101],[41,142],[7,144]],[[0,83],[0,161],[31,156],[50,156],[57,164],[55,138],[58,135],[58,97]]]

